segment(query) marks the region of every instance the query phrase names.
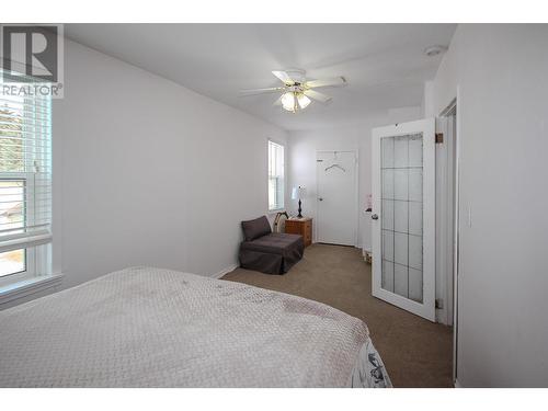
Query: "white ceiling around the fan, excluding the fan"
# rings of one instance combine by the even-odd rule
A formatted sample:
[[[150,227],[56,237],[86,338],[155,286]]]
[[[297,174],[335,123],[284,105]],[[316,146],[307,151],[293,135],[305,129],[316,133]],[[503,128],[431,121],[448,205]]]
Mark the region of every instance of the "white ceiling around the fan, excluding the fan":
[[[67,24],[67,37],[173,80],[285,129],[356,123],[372,112],[420,105],[424,80],[441,61],[423,50],[450,42],[455,24]],[[241,89],[279,85],[276,69],[307,78],[344,76],[323,89],[333,101],[298,114],[275,94]]]

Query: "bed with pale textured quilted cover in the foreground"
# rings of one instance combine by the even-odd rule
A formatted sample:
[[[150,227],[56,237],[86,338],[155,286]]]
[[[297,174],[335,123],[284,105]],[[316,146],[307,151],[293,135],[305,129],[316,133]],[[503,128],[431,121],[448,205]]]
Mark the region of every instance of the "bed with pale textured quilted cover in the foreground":
[[[240,283],[133,267],[0,311],[0,387],[390,387],[366,324]]]

